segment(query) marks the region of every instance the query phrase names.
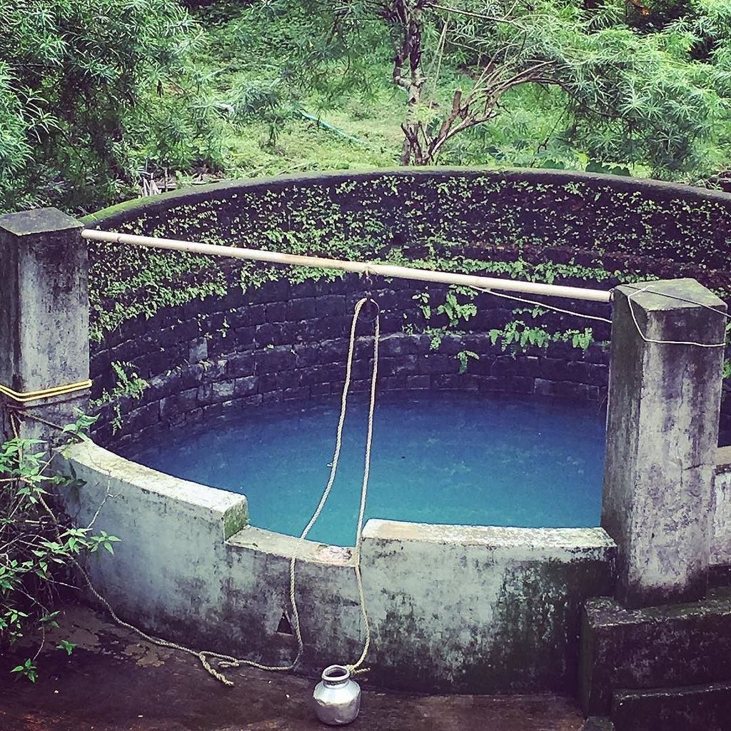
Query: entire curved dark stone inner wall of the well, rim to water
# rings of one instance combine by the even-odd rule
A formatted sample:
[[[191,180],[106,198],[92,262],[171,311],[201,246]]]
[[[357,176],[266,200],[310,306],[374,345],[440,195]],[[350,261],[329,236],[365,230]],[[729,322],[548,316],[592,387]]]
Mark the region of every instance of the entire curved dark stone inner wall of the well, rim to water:
[[[658,181],[557,170],[401,168],[262,178],[128,202],[88,216],[86,224],[105,230],[342,257],[349,256],[356,242],[362,257],[369,259],[389,259],[397,251],[406,257],[428,259],[441,256],[446,246],[450,255],[457,251],[485,262],[523,257],[534,264],[571,263],[577,273],[581,268],[586,271],[584,279],[567,283],[605,289],[616,284],[616,271],[664,279],[691,276],[721,292],[728,292],[731,282],[727,257],[731,195]],[[104,244],[90,244],[89,255],[92,327],[103,333],[102,341],[92,346],[95,395],[113,387],[107,367],[111,360],[132,361],[140,375],[153,382],[142,401],[121,404],[122,414],[135,412],[128,421],[130,428],[168,423],[170,413],[162,416],[160,412],[165,407],[158,406],[156,416],[156,408],[147,401],[155,394],[160,401],[175,393],[175,380],[161,381],[162,374],[169,371],[179,379],[182,387],[178,390],[186,392],[185,404],[178,409],[186,416],[175,417],[179,424],[202,418],[206,413],[202,409],[208,408],[211,415],[223,412],[230,406],[222,404],[239,398],[290,398],[297,393],[307,395],[313,387],[317,393],[327,393],[338,381],[323,369],[334,373],[333,364],[341,359],[326,357],[327,348],[314,355],[303,346],[325,341],[327,347],[344,352],[338,343],[346,317],[340,298],[354,295],[357,288],[338,281],[326,285],[308,280],[301,289],[289,289],[289,282],[284,280],[291,280],[292,272],[283,269],[282,281],[265,285],[261,292],[250,287],[251,298],[247,298],[237,284],[240,273],[222,260]],[[175,267],[170,268],[173,259]],[[151,266],[152,279],[137,277],[140,270]],[[603,279],[592,281],[600,271],[604,272]],[[494,268],[491,273],[496,273]],[[395,284],[385,289],[384,307],[390,310],[385,331],[395,335],[409,322],[420,329],[425,323],[420,322],[410,300],[413,292],[397,289]],[[315,295],[319,304],[312,302]],[[335,299],[326,301],[326,296]],[[283,308],[282,303],[289,299],[302,301]],[[179,306],[170,308],[171,301]],[[249,303],[254,307],[242,311]],[[345,311],[350,304],[348,301]],[[478,333],[515,319],[507,317],[494,300],[485,307],[482,321],[471,324]],[[577,309],[586,311],[581,306]],[[114,310],[113,317],[107,319],[112,324],[102,322],[110,310]],[[317,317],[327,311],[330,324],[312,325],[313,310]],[[301,331],[303,323],[309,330]],[[598,340],[608,338],[594,322],[567,318],[561,325],[580,329],[592,325]],[[192,352],[190,342],[203,336],[206,347],[201,344]],[[137,348],[133,338],[145,342]],[[452,369],[455,361],[450,349],[462,346],[448,343],[427,361],[421,357],[427,354],[420,352],[425,347],[420,341],[404,345],[403,355],[409,358],[398,372],[384,374],[390,379],[385,380],[386,387],[398,382],[398,387],[425,387],[425,376],[429,376],[429,387],[474,387],[477,383],[477,387],[496,390],[533,390],[602,401],[602,393],[596,389],[605,387],[606,379],[600,375],[602,368],[592,366],[605,366],[606,358],[596,349],[577,357],[561,345],[551,346],[548,353],[518,356],[511,369],[499,350],[469,338],[471,335],[464,341],[466,348],[483,357],[482,363],[470,363],[466,378],[455,380],[456,369]],[[251,351],[252,345],[274,345],[275,349],[291,346],[295,354],[290,355],[295,356],[298,368],[319,368],[319,372],[308,373],[307,382],[279,376],[290,367],[287,361],[291,358],[284,352],[257,357],[256,373],[251,366],[235,365],[237,360],[229,356],[235,353],[238,363],[246,363],[241,354]],[[545,357],[545,363],[537,363],[536,357],[539,361]],[[280,359],[281,363],[272,369],[266,359],[269,363]],[[553,359],[553,364],[548,359]],[[568,363],[574,365],[569,367]],[[200,364],[205,364],[205,369],[198,368]],[[257,376],[255,385],[236,385],[236,379],[249,376]],[[477,376],[479,383],[472,376]],[[532,384],[520,380],[525,378],[532,379]],[[167,406],[172,407],[172,402]],[[721,420],[730,431],[728,395]],[[107,443],[110,436],[100,433]],[[121,432],[118,437],[124,440],[126,434]]]

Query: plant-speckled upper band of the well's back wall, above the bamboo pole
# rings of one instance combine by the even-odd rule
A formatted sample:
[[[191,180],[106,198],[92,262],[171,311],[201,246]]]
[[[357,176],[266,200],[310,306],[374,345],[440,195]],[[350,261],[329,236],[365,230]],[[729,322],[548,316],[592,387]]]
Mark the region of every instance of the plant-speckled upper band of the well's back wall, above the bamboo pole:
[[[567,246],[607,261],[620,254],[687,263],[709,282],[715,274],[727,283],[730,274],[731,194],[566,170],[401,167],[253,178],[126,202],[85,222],[254,248],[347,239]]]

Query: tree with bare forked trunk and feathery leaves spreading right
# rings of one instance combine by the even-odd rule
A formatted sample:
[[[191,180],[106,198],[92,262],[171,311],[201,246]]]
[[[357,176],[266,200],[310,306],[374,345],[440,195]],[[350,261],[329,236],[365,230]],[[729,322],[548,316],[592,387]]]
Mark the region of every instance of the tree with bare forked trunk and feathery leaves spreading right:
[[[393,82],[406,92],[403,164],[433,164],[457,135],[499,124],[529,86],[562,99],[556,135],[597,161],[664,175],[696,165],[724,118],[725,72],[692,58],[694,29],[679,20],[640,33],[620,0],[591,9],[578,0],[350,0],[309,12],[317,7],[333,58],[349,68],[374,23],[387,29]]]

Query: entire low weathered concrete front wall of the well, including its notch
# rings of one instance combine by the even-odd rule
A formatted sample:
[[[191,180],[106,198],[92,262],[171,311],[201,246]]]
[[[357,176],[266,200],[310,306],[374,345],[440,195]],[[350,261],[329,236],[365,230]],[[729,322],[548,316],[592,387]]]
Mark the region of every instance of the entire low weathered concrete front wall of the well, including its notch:
[[[89,565],[121,616],[183,644],[273,664],[294,656],[294,637],[278,629],[296,539],[247,526],[243,496],[93,443],[69,447],[67,463],[86,482],[69,512],[85,523],[103,501],[96,528],[122,539]],[[580,605],[612,593],[614,555],[602,529],[368,521],[369,678],[424,691],[572,691]],[[351,551],[306,542],[297,577],[300,670],[352,662],[363,626]]]

